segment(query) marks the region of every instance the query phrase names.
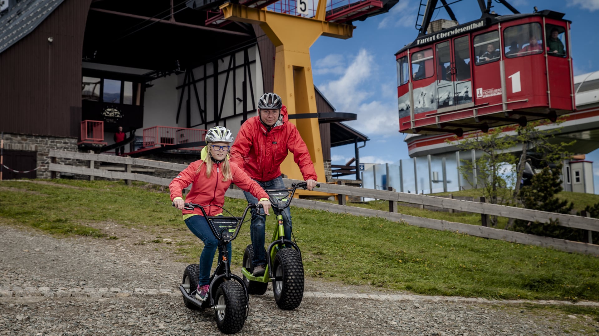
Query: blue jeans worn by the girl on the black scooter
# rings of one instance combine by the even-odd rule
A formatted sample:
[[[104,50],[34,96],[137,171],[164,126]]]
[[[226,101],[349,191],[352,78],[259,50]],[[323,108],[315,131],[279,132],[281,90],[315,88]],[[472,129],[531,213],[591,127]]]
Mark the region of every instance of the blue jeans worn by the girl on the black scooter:
[[[199,277],[198,285],[209,285],[210,284],[210,269],[212,268],[212,261],[214,259],[214,253],[216,248],[219,248],[219,262],[222,260],[223,251],[219,246],[219,240],[214,237],[212,230],[208,226],[208,221],[204,216],[191,216],[185,219],[185,224],[189,230],[195,234],[196,237],[204,242],[204,249],[202,254],[199,256]],[[229,265],[231,265],[231,243],[226,245],[227,251],[229,251]],[[195,288],[192,288],[192,290]]]

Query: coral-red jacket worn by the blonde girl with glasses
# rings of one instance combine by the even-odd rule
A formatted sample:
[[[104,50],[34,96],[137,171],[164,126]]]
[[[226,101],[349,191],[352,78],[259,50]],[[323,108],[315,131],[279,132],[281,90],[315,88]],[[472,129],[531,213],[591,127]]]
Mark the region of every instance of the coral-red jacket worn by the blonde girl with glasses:
[[[206,146],[205,148],[208,147]],[[202,151],[202,154],[203,152],[204,151]],[[204,155],[202,155],[202,157],[204,157]],[[205,159],[210,160],[210,158]],[[174,200],[175,197],[182,197],[183,189],[187,188],[188,185],[193,184],[189,194],[185,197],[185,201],[204,206],[210,204],[217,205],[204,208],[204,211],[208,216],[215,216],[222,213],[220,207],[225,203],[225,192],[229,188],[229,185],[231,185],[231,182],[235,183],[237,187],[249,191],[258,199],[268,198],[268,194],[264,189],[262,189],[262,187],[255,181],[252,181],[252,179],[250,179],[237,164],[229,162],[233,179],[232,181],[228,180],[223,182],[222,163],[213,163],[210,178],[206,177],[205,164],[202,164],[202,169],[198,173],[195,172],[201,163],[202,160],[190,163],[183,172],[180,172],[179,175],[171,181],[168,185],[168,188],[171,191],[171,201]],[[183,210],[183,215],[186,215],[187,213],[202,215],[201,210],[199,209],[195,211]]]

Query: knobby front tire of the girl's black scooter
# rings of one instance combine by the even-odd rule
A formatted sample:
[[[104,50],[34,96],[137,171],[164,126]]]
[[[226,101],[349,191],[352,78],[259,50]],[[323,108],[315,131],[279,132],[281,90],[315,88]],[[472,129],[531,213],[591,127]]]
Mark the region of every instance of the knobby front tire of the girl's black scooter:
[[[225,306],[225,310],[216,310],[216,325],[225,334],[235,334],[243,328],[247,317],[247,297],[243,286],[237,281],[225,281],[216,291],[218,306]]]

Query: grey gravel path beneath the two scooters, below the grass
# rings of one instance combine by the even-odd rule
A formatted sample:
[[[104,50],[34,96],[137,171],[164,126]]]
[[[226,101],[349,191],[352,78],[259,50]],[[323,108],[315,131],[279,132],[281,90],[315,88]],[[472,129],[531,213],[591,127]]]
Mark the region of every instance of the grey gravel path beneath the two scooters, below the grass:
[[[220,334],[213,311],[183,306],[178,286],[186,264],[170,249],[56,239],[4,224],[0,236],[0,335]],[[522,304],[306,279],[295,310],[280,310],[270,287],[251,295],[238,335],[599,335],[590,317]]]

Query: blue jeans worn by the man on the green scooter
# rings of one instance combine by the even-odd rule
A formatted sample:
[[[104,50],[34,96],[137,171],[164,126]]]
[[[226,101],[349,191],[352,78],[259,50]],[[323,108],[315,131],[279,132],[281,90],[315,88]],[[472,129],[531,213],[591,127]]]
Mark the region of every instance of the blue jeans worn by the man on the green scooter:
[[[276,179],[271,179],[270,181],[256,182],[258,182],[260,187],[264,188],[264,190],[285,189],[285,184],[283,184],[283,178],[281,176]],[[247,203],[258,203],[258,198],[253,197],[251,193],[247,191],[244,191],[243,193],[246,196]],[[262,212],[262,209],[259,210]],[[266,264],[266,255],[264,253],[266,215],[261,215],[258,211],[256,211],[256,209],[252,209],[251,211],[252,221],[250,224],[250,237],[252,238],[252,245],[254,248],[254,258],[252,259],[252,264],[254,267],[256,267],[257,265]],[[274,213],[273,209],[270,209],[270,212]],[[286,209],[283,210],[283,227],[285,228],[285,238],[291,240],[291,211],[289,211],[289,207],[286,207]]]

